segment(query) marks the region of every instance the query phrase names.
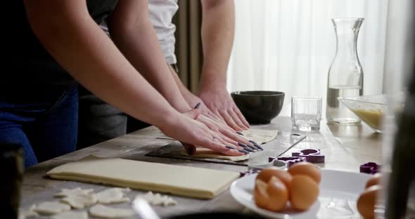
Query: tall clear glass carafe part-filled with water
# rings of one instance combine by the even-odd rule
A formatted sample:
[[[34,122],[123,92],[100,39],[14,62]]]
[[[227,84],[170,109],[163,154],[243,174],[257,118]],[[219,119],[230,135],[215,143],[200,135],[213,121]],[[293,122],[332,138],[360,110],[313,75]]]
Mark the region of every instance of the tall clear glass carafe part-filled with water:
[[[359,124],[360,119],[337,98],[363,94],[363,69],[357,55],[357,36],[364,18],[332,19],[336,55],[328,70],[326,119],[334,124]]]

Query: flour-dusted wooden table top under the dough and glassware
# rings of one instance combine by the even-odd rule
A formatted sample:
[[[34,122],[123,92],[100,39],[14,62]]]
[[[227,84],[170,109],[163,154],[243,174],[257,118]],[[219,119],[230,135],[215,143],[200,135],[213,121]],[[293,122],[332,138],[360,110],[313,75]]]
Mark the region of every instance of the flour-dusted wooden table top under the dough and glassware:
[[[291,130],[289,117],[277,117],[272,121],[272,124],[278,127],[280,131]],[[103,185],[46,178],[46,172],[51,168],[65,164],[68,161],[76,161],[89,154],[228,171],[246,171],[248,169],[245,166],[145,157],[145,154],[155,150],[155,148],[173,142],[173,140],[156,138],[159,135],[160,131],[158,128],[151,126],[27,168],[22,188],[21,206],[29,206],[39,201],[51,200],[53,199],[53,194],[59,192],[62,188],[82,187],[94,188],[96,191],[102,190],[105,187]],[[369,161],[381,163],[382,143],[382,135],[374,133],[366,124],[337,126],[328,125],[325,121],[321,121],[320,131],[307,133],[307,138],[295,145],[286,154],[289,155],[292,151],[305,148],[320,149],[321,153],[326,155],[326,164],[320,165],[321,167],[359,172],[359,165],[361,164]],[[129,197],[134,198],[138,193],[144,193],[144,191],[132,191]],[[231,197],[229,190],[222,192],[222,194],[211,200],[188,199],[184,197],[174,197],[174,199],[179,202],[177,206],[155,206],[155,211],[161,217],[206,211],[246,211],[241,204],[238,204]]]

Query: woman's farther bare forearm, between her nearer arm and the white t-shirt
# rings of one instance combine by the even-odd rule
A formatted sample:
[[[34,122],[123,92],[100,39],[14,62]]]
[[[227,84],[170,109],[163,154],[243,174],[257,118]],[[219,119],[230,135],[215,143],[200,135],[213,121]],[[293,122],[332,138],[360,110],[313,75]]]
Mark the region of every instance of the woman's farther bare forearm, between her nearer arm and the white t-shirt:
[[[165,63],[157,34],[149,20],[148,6],[144,4],[144,1],[119,1],[117,10],[108,19],[110,36],[129,62],[170,102],[170,105],[180,112],[191,110]],[[125,18],[128,14],[136,14],[136,17]]]

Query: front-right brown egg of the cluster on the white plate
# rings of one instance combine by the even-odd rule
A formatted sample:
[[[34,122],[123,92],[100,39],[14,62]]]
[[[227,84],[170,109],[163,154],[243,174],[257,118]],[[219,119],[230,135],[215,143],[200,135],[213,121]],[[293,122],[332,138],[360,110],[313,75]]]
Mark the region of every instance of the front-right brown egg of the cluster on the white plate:
[[[293,175],[289,190],[291,206],[300,211],[307,210],[319,196],[319,185],[308,175]]]

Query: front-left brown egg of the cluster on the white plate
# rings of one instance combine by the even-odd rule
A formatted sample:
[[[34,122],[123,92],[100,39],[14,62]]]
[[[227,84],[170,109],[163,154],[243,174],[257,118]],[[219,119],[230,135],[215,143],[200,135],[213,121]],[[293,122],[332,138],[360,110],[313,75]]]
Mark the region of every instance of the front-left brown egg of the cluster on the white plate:
[[[256,180],[254,201],[260,208],[269,211],[281,211],[288,201],[288,189],[275,176],[272,176],[268,183],[264,183],[262,180]]]

